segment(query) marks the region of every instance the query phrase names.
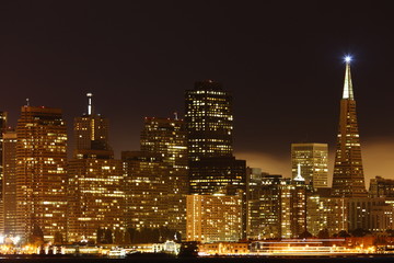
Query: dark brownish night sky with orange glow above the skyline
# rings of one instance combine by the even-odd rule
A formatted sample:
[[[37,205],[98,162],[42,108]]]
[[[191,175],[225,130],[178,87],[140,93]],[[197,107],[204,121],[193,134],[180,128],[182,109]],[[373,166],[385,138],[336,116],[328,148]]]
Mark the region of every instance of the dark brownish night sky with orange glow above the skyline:
[[[183,115],[184,91],[212,79],[234,98],[236,157],[289,175],[291,142],[334,150],[350,54],[366,176],[394,179],[390,3],[1,1],[0,110],[15,125],[26,98],[61,107],[71,134],[93,92],[119,157],[144,116]]]

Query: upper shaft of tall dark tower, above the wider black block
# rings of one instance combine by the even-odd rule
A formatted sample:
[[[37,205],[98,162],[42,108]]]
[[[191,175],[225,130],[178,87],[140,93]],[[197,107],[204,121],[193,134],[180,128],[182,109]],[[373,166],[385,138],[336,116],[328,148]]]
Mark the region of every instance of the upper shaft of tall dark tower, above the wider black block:
[[[186,129],[192,161],[232,156],[232,96],[218,82],[198,81],[187,90]]]

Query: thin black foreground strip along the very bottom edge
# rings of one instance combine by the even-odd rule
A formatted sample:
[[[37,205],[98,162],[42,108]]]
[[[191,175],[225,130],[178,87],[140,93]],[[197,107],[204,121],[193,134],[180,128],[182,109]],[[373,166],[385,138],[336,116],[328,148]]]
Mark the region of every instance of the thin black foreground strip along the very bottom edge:
[[[157,258],[127,258],[127,259],[107,259],[107,258],[61,258],[61,256],[1,256],[0,262],[30,262],[30,263],[100,263],[100,262],[187,262],[187,263],[380,263],[393,262],[394,255],[364,255],[348,258],[318,258],[318,256],[294,256],[294,258],[266,258],[266,256],[239,256],[239,258],[183,258],[183,259],[157,259]]]

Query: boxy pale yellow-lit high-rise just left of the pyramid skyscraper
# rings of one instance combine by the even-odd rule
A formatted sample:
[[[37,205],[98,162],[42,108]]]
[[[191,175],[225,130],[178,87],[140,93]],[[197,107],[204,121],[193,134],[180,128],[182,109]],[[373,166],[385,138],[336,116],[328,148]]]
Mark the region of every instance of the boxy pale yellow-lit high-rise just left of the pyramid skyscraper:
[[[305,184],[313,188],[328,187],[327,144],[291,144],[291,172],[297,176],[298,164]]]

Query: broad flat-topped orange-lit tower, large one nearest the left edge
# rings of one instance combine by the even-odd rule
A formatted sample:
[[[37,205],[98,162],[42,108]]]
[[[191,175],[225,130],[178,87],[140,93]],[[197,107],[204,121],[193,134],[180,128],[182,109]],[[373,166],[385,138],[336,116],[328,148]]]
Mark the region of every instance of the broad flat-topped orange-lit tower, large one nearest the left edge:
[[[16,126],[16,232],[60,241],[67,225],[67,128],[60,108],[22,106]],[[39,237],[43,238],[43,237]]]

